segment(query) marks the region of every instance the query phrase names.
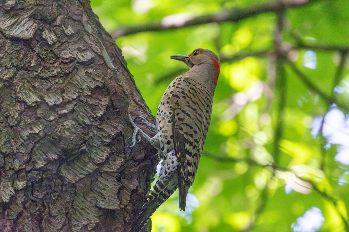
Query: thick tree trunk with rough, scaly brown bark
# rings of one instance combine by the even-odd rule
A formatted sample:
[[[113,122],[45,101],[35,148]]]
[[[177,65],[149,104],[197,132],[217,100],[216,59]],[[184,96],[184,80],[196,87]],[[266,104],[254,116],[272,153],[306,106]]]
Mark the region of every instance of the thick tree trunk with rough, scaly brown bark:
[[[0,0],[0,231],[129,231],[156,157],[126,65],[89,1]]]

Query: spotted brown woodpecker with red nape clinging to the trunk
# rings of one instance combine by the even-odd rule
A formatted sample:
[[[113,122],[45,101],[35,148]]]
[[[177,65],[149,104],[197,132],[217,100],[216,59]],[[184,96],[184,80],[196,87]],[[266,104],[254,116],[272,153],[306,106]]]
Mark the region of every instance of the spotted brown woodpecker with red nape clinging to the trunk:
[[[176,77],[165,90],[156,113],[157,134],[150,139],[142,131],[144,137],[158,146],[162,163],[156,184],[133,223],[131,231],[134,232],[142,230],[154,211],[177,187],[179,208],[185,210],[188,190],[194,182],[210,124],[220,59],[213,51],[202,48],[189,55],[170,58],[183,61],[190,70]],[[135,133],[138,131],[140,129]]]

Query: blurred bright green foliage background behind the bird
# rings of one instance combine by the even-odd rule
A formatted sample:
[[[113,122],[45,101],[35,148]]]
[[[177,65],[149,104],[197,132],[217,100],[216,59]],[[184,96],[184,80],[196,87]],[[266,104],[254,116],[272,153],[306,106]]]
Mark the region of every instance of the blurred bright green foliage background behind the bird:
[[[186,211],[176,191],[153,215],[153,232],[349,231],[349,1],[284,2],[293,5],[91,0],[154,115],[187,71],[170,55],[207,48],[221,58]],[[210,16],[232,9],[245,15]]]

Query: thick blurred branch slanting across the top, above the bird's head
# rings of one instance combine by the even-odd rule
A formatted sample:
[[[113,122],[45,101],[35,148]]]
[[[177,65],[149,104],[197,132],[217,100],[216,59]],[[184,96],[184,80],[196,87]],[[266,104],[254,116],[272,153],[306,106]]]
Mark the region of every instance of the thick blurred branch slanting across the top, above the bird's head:
[[[110,33],[113,39],[117,39],[124,35],[135,34],[144,31],[164,31],[175,28],[194,26],[206,23],[222,23],[222,22],[237,22],[241,19],[248,18],[254,15],[267,12],[276,12],[286,8],[295,8],[304,6],[310,2],[319,0],[282,0],[268,1],[252,6],[233,8],[221,11],[216,14],[201,15],[193,18],[181,18],[180,22],[167,23],[164,20],[161,22],[149,22],[138,25],[130,25],[119,27]]]

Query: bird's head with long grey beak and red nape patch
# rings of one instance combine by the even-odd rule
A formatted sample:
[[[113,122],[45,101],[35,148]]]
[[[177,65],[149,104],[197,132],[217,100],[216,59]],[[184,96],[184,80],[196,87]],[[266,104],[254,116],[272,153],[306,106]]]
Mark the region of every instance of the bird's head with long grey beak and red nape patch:
[[[183,61],[190,69],[196,65],[202,65],[203,68],[214,71],[214,87],[217,85],[218,75],[221,70],[221,63],[218,56],[211,50],[198,48],[189,55],[173,55],[171,59]]]

